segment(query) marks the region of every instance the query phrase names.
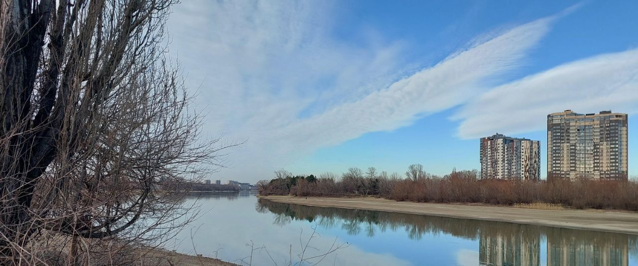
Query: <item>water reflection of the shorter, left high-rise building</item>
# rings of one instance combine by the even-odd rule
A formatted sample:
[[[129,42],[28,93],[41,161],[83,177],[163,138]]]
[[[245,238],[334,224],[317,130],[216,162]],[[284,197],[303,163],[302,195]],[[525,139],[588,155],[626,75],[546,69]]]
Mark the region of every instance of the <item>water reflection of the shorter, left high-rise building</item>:
[[[538,265],[540,262],[540,233],[529,232],[521,225],[501,231],[482,228],[479,239],[480,265]],[[492,232],[491,232],[492,231]],[[507,232],[510,231],[510,232]]]

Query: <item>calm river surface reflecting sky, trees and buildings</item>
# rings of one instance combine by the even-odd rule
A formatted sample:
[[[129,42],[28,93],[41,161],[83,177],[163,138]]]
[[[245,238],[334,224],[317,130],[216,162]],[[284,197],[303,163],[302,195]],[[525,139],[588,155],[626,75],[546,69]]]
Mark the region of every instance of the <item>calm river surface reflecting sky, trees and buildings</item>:
[[[304,265],[638,265],[636,235],[308,207],[246,191],[188,198],[195,201],[204,213],[174,240],[177,250],[240,265],[251,243],[265,247],[252,265],[294,264],[301,254],[318,256]]]

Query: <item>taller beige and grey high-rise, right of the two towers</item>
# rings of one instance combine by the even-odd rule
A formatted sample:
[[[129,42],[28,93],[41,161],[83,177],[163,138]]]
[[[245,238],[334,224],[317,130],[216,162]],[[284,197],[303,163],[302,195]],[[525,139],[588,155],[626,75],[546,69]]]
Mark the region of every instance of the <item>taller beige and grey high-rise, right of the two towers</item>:
[[[547,115],[547,179],[627,180],[627,114]]]

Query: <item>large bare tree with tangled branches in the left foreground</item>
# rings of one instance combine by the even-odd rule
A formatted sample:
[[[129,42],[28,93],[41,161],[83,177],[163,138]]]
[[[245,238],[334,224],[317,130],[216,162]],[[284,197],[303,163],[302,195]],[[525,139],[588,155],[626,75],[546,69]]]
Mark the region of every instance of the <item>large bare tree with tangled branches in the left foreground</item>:
[[[165,55],[175,3],[0,0],[1,265],[117,264],[104,247],[151,247],[188,221],[163,184],[220,166],[228,145],[200,140]]]

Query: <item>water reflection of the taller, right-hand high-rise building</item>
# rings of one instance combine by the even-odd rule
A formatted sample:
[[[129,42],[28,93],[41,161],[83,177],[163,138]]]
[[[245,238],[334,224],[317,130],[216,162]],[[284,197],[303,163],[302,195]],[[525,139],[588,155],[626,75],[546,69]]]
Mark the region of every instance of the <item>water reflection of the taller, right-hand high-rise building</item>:
[[[587,232],[589,233],[589,232]],[[628,239],[547,236],[547,266],[628,265]]]

